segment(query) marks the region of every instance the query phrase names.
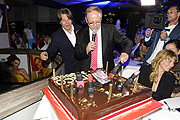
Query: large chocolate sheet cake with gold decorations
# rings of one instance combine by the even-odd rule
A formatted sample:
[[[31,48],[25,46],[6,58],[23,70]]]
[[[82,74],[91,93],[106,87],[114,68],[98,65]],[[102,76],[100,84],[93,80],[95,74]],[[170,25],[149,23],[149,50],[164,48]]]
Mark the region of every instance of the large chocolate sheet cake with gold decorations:
[[[94,85],[94,97],[88,96],[88,81],[87,78],[90,72],[81,72],[84,80],[84,87],[79,88],[77,94],[73,95],[68,91],[68,87],[72,82],[76,85],[76,74],[71,73],[64,76],[56,76],[49,79],[49,87],[56,94],[59,100],[64,104],[71,115],[78,120],[92,120],[104,119],[117,111],[129,111],[128,108],[140,106],[144,101],[149,101],[151,98],[151,89],[144,87],[134,82],[129,86],[123,85],[122,91],[116,90],[116,82],[121,81],[124,83],[126,79],[121,77],[114,77],[112,79],[112,94],[111,99],[108,100],[109,84],[104,84],[103,87]],[[61,79],[63,79],[63,89],[61,86]]]

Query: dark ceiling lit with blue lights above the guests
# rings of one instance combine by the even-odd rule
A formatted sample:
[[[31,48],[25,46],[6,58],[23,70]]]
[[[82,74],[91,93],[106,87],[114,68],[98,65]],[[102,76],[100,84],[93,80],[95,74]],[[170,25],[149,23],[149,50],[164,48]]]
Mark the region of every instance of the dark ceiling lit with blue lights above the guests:
[[[67,7],[71,10],[84,12],[89,6],[98,6],[103,11],[121,12],[127,9],[137,9],[146,11],[158,5],[180,4],[180,0],[155,0],[155,6],[141,6],[141,0],[6,0],[7,4],[26,5],[33,3],[36,5],[52,8]],[[149,1],[149,0],[147,0]]]

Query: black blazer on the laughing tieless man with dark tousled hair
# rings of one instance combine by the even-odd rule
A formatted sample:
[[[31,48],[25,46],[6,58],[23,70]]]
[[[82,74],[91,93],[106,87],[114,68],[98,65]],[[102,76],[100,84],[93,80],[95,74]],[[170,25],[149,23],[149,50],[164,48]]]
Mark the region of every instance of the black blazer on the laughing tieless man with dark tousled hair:
[[[74,25],[75,34],[79,29],[81,29],[81,26]],[[52,57],[57,52],[61,53],[62,60],[65,63],[65,72],[67,74],[78,72],[80,70],[80,61],[75,59],[74,47],[62,27],[52,34],[51,43],[46,52],[48,53],[48,57]]]

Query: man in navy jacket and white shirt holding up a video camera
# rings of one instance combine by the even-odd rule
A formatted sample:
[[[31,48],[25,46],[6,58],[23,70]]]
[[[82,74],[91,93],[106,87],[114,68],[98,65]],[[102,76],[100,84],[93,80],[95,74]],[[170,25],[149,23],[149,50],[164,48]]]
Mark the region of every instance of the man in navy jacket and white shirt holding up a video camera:
[[[144,65],[151,64],[151,61],[155,58],[156,54],[163,49],[164,43],[171,40],[177,39],[180,40],[180,7],[171,6],[167,11],[168,27],[165,27],[165,30],[168,31],[159,31],[147,28],[145,35],[145,42],[149,46],[149,50],[144,58]],[[148,36],[149,35],[149,36]]]

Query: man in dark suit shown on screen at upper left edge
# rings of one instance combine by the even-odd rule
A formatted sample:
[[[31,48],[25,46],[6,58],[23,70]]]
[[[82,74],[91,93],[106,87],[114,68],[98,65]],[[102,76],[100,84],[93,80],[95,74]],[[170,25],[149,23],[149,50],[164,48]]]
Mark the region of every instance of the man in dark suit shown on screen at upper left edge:
[[[0,32],[7,32],[6,16],[2,9],[3,7],[0,5]]]

